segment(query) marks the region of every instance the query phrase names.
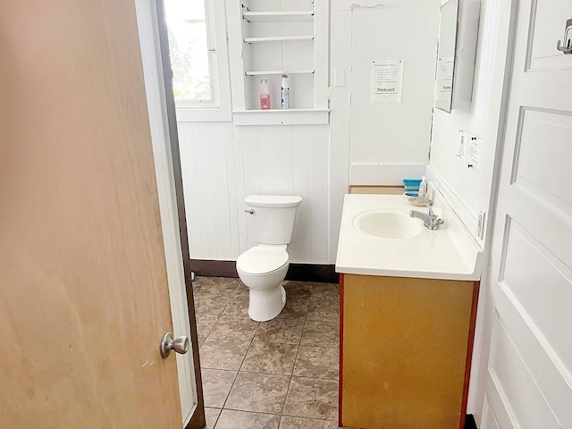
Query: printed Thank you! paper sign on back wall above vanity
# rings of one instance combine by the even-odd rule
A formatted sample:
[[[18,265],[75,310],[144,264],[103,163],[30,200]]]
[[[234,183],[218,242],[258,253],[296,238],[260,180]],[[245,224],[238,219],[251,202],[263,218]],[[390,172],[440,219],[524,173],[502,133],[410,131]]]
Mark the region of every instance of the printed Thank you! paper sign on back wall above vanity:
[[[370,101],[400,103],[403,60],[372,61]]]

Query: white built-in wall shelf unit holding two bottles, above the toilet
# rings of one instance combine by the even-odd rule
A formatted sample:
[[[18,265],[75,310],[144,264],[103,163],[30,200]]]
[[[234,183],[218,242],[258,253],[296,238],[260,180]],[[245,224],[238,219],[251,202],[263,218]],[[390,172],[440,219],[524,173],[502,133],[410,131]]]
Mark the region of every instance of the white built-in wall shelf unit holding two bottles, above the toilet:
[[[232,116],[237,125],[327,123],[328,2],[227,0]],[[282,74],[290,109],[281,108]],[[268,80],[271,108],[260,108]]]

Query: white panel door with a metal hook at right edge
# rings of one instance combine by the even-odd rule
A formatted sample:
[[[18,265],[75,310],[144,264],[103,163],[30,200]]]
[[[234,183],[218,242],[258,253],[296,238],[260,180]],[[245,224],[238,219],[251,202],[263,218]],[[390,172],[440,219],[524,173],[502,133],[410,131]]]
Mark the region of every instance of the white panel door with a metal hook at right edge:
[[[556,49],[570,18],[570,0],[517,2],[482,429],[572,428],[572,55]]]

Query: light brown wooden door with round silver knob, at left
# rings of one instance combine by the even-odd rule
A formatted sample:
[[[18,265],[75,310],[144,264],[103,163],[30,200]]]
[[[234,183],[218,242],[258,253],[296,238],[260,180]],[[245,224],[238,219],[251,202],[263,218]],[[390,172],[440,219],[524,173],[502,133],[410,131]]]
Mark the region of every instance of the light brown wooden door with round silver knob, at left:
[[[0,427],[180,428],[134,4],[2,2]]]

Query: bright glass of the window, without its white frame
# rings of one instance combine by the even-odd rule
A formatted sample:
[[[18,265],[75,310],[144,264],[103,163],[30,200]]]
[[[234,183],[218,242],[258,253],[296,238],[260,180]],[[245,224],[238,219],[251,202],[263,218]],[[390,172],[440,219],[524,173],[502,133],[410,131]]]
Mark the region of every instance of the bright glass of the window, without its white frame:
[[[165,0],[175,100],[213,101],[203,0]]]

